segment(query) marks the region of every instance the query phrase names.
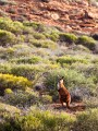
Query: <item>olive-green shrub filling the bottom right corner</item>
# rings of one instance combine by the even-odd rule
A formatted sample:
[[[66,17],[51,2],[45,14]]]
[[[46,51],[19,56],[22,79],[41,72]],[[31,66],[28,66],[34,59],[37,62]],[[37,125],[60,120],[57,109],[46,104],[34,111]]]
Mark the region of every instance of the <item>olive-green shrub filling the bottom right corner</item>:
[[[73,131],[97,131],[98,130],[98,109],[90,109],[78,114]]]

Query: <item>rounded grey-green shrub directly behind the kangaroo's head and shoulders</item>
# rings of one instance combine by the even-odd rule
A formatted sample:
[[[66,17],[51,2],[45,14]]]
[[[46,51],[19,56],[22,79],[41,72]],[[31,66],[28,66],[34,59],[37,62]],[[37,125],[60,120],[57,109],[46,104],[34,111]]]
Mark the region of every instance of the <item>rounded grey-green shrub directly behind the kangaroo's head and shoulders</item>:
[[[78,75],[78,76],[77,76]],[[51,70],[46,76],[45,84],[49,90],[56,90],[57,91],[57,82],[58,76],[64,76],[64,82],[68,87],[74,87],[77,86],[77,82],[85,81],[85,78],[83,74],[77,73],[74,70],[68,70],[68,69],[58,69],[58,70]]]

